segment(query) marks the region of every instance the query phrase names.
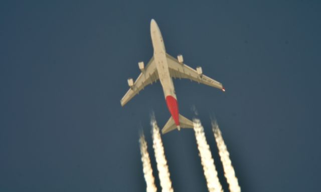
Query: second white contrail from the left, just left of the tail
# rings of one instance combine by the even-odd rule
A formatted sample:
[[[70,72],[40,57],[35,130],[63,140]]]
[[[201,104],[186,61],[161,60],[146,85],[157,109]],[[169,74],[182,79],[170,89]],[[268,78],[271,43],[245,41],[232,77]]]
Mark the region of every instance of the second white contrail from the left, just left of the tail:
[[[155,158],[157,162],[158,176],[161,181],[162,191],[163,192],[173,192],[172,181],[170,178],[170,171],[167,165],[167,160],[164,153],[164,146],[161,138],[161,134],[159,133],[159,128],[157,126],[156,121],[151,119],[152,126],[152,140],[155,153]]]

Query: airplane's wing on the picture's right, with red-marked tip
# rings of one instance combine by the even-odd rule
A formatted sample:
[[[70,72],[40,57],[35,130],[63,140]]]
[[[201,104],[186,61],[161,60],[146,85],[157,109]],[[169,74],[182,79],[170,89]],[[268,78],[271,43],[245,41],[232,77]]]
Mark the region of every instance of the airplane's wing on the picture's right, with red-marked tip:
[[[202,69],[200,72],[198,72],[184,63],[180,63],[176,58],[170,56],[169,54],[166,54],[166,57],[171,77],[190,79],[198,83],[203,83],[205,85],[225,91],[220,82],[203,75]]]

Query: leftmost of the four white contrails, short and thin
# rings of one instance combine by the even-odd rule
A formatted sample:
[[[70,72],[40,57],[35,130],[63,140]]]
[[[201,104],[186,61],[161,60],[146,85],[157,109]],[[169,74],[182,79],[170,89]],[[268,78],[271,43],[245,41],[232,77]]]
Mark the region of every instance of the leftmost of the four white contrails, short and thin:
[[[150,164],[150,158],[147,151],[147,143],[145,140],[145,136],[143,133],[140,134],[139,138],[139,144],[140,144],[140,154],[141,154],[141,162],[144,172],[144,177],[146,181],[146,191],[147,192],[156,192],[157,188],[155,186],[155,179],[152,175],[152,168]]]

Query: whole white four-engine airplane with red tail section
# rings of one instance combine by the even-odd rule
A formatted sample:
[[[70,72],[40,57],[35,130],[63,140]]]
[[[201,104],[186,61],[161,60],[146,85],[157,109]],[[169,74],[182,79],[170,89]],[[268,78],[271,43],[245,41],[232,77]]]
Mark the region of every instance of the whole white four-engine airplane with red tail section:
[[[121,106],[124,106],[146,85],[159,80],[163,87],[167,107],[171,113],[171,117],[162,129],[162,133],[168,133],[176,128],[178,130],[181,128],[193,128],[193,122],[179,113],[172,78],[190,79],[198,83],[203,83],[205,85],[221,89],[222,91],[225,91],[225,89],[220,82],[203,75],[201,67],[197,67],[196,70],[194,70],[193,68],[185,65],[183,63],[182,55],[178,55],[176,59],[167,54],[161,31],[153,19],[150,21],[150,36],[154,50],[153,56],[146,67],[144,67],[143,62],[138,62],[138,67],[141,73],[135,82],[132,78],[127,80],[130,88],[120,100],[120,104]]]

